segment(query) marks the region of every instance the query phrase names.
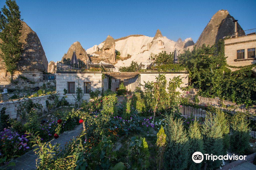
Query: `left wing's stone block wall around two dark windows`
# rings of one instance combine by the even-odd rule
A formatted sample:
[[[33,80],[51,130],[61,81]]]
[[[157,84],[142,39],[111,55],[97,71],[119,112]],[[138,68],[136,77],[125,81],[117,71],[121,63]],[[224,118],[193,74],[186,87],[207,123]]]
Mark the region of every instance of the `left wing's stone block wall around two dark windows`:
[[[102,88],[102,73],[101,72],[72,72],[72,71],[57,71],[56,75],[56,92],[59,93],[60,99],[64,96],[63,90],[68,90],[68,82],[75,82],[75,89],[78,86],[78,78],[80,77],[80,87],[84,92],[84,82],[91,83],[91,90],[95,90],[96,88]],[[105,81],[106,82],[106,81]],[[66,94],[66,100],[69,104],[74,104],[74,96],[75,94]],[[84,94],[83,100],[89,101],[90,95]]]

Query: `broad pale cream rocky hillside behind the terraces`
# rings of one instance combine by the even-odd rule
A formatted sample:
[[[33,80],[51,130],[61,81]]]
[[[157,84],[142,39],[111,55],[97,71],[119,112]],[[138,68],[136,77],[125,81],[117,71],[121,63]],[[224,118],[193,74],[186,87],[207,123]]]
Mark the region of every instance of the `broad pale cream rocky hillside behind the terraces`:
[[[104,44],[105,41],[87,49],[86,52],[92,59],[97,58],[100,56],[99,51],[104,49]],[[120,57],[124,58],[124,60],[118,60],[111,63],[114,63],[115,67],[119,68],[122,66],[129,66],[132,61],[150,62],[151,53],[158,54],[162,51],[170,53],[173,52],[175,48],[183,51],[184,48],[193,45],[194,42],[191,38],[184,41],[178,39],[177,42],[169,40],[162,35],[159,29],[156,31],[154,37],[147,37],[145,35],[129,35],[115,40],[115,50],[120,52]],[[106,62],[102,56],[100,56],[97,61]]]

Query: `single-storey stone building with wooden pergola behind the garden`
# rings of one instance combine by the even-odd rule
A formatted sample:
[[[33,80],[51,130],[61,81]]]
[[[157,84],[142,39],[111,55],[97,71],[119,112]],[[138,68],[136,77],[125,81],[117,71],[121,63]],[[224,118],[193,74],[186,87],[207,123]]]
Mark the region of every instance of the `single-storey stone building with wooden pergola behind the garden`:
[[[105,75],[102,79],[102,75]],[[120,82],[124,83],[127,91],[133,92],[136,87],[141,87],[147,81],[156,81],[156,77],[159,74],[165,74],[166,80],[169,81],[174,76],[180,76],[182,78],[181,87],[188,86],[188,72],[177,71],[177,72],[89,72],[89,71],[57,71],[56,72],[56,92],[60,94],[60,98],[64,96],[63,91],[68,91],[66,100],[70,104],[75,103],[74,96],[76,88],[78,87],[78,77],[80,77],[80,87],[83,89],[83,100],[89,101],[89,91],[97,88],[103,89],[104,91],[109,89],[109,81],[111,81],[111,91],[116,91],[119,87]],[[157,85],[156,85],[157,86]],[[177,89],[181,91],[181,89]]]

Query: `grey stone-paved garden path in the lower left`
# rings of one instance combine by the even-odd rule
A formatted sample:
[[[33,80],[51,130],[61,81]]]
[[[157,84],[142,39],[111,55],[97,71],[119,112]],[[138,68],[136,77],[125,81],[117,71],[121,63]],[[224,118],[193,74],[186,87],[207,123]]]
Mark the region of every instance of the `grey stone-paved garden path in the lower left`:
[[[58,139],[52,139],[49,142],[51,142],[51,144],[60,143],[60,147],[63,148],[66,142],[70,141],[70,139],[72,139],[73,137],[78,136],[81,131],[82,131],[82,125],[78,125],[73,130],[69,130],[62,133]],[[33,152],[33,150],[16,158],[14,160],[16,166],[11,167],[11,169],[18,169],[18,170],[36,169],[37,155],[35,154],[35,152]]]

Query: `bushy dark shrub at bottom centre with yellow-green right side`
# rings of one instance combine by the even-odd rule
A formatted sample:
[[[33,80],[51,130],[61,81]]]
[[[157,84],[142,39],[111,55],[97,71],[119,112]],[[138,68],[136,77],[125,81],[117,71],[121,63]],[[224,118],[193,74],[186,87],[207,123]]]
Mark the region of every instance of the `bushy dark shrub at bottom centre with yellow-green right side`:
[[[146,139],[132,137],[128,153],[132,169],[147,169],[149,167],[149,156]]]

